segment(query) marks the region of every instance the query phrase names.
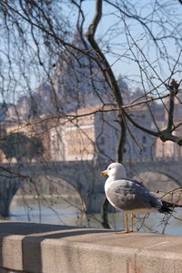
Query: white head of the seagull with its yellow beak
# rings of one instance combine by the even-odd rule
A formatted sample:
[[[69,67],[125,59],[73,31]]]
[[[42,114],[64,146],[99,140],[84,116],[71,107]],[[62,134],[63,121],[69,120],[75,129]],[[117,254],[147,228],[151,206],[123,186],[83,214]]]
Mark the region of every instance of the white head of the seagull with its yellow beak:
[[[116,179],[126,178],[126,169],[120,163],[112,163],[110,164],[106,170],[102,172],[103,176],[114,177]]]

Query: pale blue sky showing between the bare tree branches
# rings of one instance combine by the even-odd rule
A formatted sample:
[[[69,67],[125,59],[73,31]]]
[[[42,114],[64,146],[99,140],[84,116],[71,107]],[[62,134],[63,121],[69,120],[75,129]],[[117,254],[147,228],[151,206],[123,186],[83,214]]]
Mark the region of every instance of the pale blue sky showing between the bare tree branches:
[[[69,2],[69,1],[68,1]],[[65,1],[65,3],[68,3]],[[70,2],[69,2],[70,3]],[[98,25],[97,31],[96,31],[96,40],[98,44],[101,46],[103,49],[103,52],[106,53],[106,57],[110,63],[110,65],[113,68],[113,71],[115,72],[116,76],[121,75],[127,78],[127,84],[131,88],[136,88],[137,86],[140,86],[141,88],[146,88],[147,90],[152,88],[153,85],[157,86],[161,81],[164,81],[167,79],[167,76],[170,75],[169,68],[170,66],[174,66],[177,56],[179,54],[179,50],[181,49],[179,46],[177,47],[177,44],[175,43],[174,39],[168,39],[164,41],[159,41],[160,48],[163,51],[164,57],[161,58],[158,54],[158,50],[154,42],[151,41],[151,39],[147,39],[147,34],[145,33],[145,29],[136,21],[133,19],[128,19],[126,17],[123,17],[116,9],[112,8],[110,5],[106,5],[106,2],[103,1],[103,17]],[[112,3],[116,3],[116,1],[112,1]],[[118,3],[120,3],[118,1]],[[150,14],[151,9],[150,6],[154,5],[156,1],[154,0],[144,0],[144,1],[124,1],[123,3],[132,3],[134,7],[136,8],[136,13],[138,15],[141,15],[142,17],[146,17],[148,20],[153,18]],[[161,16],[164,17],[164,23],[167,24],[167,33],[170,32],[170,29],[172,30],[172,25],[178,23],[178,34],[180,35],[182,31],[180,25],[181,25],[181,13],[182,13],[182,6],[181,10],[175,7],[175,4],[177,2],[175,1],[167,1],[167,0],[161,0],[160,1],[161,5],[166,5],[168,13],[174,14],[173,17],[169,17],[169,19],[172,18],[174,21],[167,21],[167,16],[161,14]],[[173,5],[173,3],[175,3]],[[59,3],[60,5],[60,3]],[[62,4],[61,4],[62,5]],[[83,9],[86,15],[86,22],[84,25],[85,32],[87,30],[88,25],[93,19],[93,15],[95,14],[95,5],[96,1],[95,0],[86,0],[83,1]],[[145,7],[144,7],[145,5]],[[143,6],[143,8],[142,8]],[[74,27],[72,28],[73,33],[75,32],[76,28],[76,10],[72,10],[73,5],[69,5],[69,9],[67,8],[66,5],[63,5],[63,15],[66,15],[66,13],[69,14],[69,19],[72,25]],[[131,7],[134,9],[134,7]],[[161,11],[160,11],[161,12]],[[159,13],[159,11],[158,11]],[[157,15],[154,15],[157,17]],[[162,17],[162,18],[163,18]],[[124,20],[125,19],[125,20]],[[166,20],[166,21],[165,21]],[[126,22],[126,25],[128,26],[128,29],[130,31],[131,36],[126,35],[126,29],[124,25],[124,21]],[[160,29],[157,28],[157,25],[155,24],[149,24],[149,29],[151,31],[154,31],[158,35],[160,35]],[[161,25],[162,27],[163,25]],[[177,33],[175,34],[177,35]],[[128,38],[128,41],[127,41]],[[136,47],[134,41],[136,42],[136,45],[138,48],[141,48],[141,51],[139,52],[138,48]],[[1,41],[1,45],[3,45],[3,40]],[[7,45],[5,44],[6,50],[7,50]],[[4,45],[3,45],[3,49]],[[130,49],[130,50],[129,50]],[[32,51],[35,50],[35,47],[33,46]],[[132,55],[132,52],[133,55]],[[110,54],[108,54],[106,51],[109,51]],[[19,55],[19,59],[21,59],[21,54],[16,52],[13,53],[13,55]],[[142,56],[144,54],[144,56]],[[134,55],[136,58],[138,58],[139,62],[137,62],[134,59]],[[170,58],[166,56],[171,56]],[[1,54],[1,57],[3,55]],[[29,52],[29,56],[31,56],[31,51]],[[145,56],[147,56],[147,60],[145,60]],[[17,57],[18,58],[18,57]],[[173,58],[173,59],[172,59]],[[147,61],[148,64],[147,64]],[[181,63],[181,58],[180,58],[180,63]],[[139,69],[138,64],[141,66],[140,68],[143,69],[143,71],[147,71],[147,74],[142,72],[141,75],[141,69]],[[149,64],[152,64],[150,67]],[[7,64],[8,65],[8,64]],[[32,66],[33,67],[33,66]],[[35,72],[34,67],[31,67],[31,62],[30,66],[26,68],[25,74],[26,76],[31,76],[30,77],[30,83],[32,86],[32,89],[35,89],[36,86],[40,85],[40,82],[38,80],[35,80],[35,76],[33,75]],[[178,80],[181,78],[181,68],[176,67],[176,70],[179,70],[177,74],[175,74],[175,78]],[[5,70],[5,68],[4,68]],[[22,73],[21,70],[18,71],[16,69],[16,74]],[[40,67],[40,74],[41,74],[41,67]],[[143,78],[142,78],[143,76]],[[147,78],[148,77],[148,78]],[[17,76],[18,78],[18,76]],[[149,80],[148,80],[149,79]],[[13,85],[13,82],[10,83],[10,86]],[[142,83],[144,86],[142,86]],[[22,84],[22,86],[19,87],[19,89],[16,87],[16,90],[18,91],[19,94],[24,94],[24,85],[25,83]],[[11,86],[10,89],[13,87]],[[164,90],[164,86],[163,86]],[[7,99],[8,98],[7,94]]]

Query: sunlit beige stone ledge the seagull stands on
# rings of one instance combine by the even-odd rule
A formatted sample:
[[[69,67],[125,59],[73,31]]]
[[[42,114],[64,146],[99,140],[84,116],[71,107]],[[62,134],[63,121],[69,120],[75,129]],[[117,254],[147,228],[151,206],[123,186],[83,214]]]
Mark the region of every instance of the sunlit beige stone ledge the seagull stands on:
[[[0,268],[32,273],[181,273],[182,237],[0,222]]]

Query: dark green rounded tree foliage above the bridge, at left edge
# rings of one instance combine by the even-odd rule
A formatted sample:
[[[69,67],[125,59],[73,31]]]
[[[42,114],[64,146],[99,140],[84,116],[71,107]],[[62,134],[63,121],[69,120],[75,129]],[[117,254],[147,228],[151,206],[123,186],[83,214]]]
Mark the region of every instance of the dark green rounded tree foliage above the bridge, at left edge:
[[[43,153],[43,145],[40,138],[27,137],[24,133],[12,133],[0,141],[0,148],[7,158],[15,157],[17,162],[30,161]]]

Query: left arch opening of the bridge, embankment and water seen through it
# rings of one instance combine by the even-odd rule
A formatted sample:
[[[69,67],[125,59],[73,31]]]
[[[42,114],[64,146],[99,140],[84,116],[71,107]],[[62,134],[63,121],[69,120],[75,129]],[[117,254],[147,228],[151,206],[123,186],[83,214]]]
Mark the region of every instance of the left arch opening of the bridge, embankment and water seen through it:
[[[34,177],[33,182],[22,181],[9,206],[12,214],[17,214],[19,207],[20,214],[22,213],[24,217],[25,214],[27,217],[29,215],[34,219],[36,219],[35,211],[38,214],[38,206],[41,206],[40,212],[43,211],[41,218],[44,219],[46,215],[50,218],[57,216],[57,224],[64,224],[65,217],[62,216],[64,209],[66,213],[73,211],[78,215],[85,210],[86,205],[76,187],[66,180],[54,176],[39,176]],[[53,220],[55,221],[55,218]]]

